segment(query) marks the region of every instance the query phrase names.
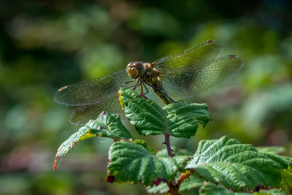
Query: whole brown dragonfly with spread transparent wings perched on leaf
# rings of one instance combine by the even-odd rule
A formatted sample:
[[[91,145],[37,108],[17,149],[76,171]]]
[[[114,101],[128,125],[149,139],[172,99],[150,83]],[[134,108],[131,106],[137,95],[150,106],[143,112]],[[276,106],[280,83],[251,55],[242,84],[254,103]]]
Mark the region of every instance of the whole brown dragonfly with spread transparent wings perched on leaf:
[[[61,87],[54,100],[79,106],[70,116],[70,123],[77,125],[96,119],[102,111],[122,114],[117,96],[121,86],[150,98],[156,94],[164,104],[175,103],[171,97],[198,96],[244,65],[244,60],[236,55],[219,58],[221,51],[222,45],[210,39],[153,63],[130,62],[126,71]]]

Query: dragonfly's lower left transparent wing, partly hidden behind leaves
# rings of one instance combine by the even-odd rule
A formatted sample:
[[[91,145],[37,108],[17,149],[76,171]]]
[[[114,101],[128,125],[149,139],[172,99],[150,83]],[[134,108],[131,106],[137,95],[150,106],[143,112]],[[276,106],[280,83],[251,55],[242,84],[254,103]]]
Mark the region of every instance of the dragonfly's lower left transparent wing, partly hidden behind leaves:
[[[125,87],[129,87],[134,85],[135,82],[128,83],[125,85]],[[149,93],[146,94],[147,98],[153,98],[154,92],[152,91],[151,87],[147,86],[147,89]],[[137,86],[137,88],[134,90],[138,94],[141,94],[141,86]],[[144,93],[146,92],[145,89],[143,89]],[[116,91],[116,93],[118,90]],[[122,111],[122,107],[119,104],[118,95],[116,93],[111,96],[110,98],[103,99],[97,103],[89,104],[89,105],[83,105],[71,114],[70,116],[70,123],[75,125],[85,125],[89,120],[96,119],[99,114],[103,111],[107,111],[110,114],[119,114],[121,118],[124,118],[124,112]]]

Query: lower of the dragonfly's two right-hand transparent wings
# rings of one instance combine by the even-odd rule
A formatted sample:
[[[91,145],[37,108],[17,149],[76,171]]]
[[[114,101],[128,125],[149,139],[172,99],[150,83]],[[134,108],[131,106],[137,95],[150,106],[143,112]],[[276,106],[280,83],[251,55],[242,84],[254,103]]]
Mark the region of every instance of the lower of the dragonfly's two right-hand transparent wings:
[[[174,97],[198,96],[225,81],[244,65],[243,59],[230,55],[216,59],[201,70],[183,67],[161,74],[162,86]]]

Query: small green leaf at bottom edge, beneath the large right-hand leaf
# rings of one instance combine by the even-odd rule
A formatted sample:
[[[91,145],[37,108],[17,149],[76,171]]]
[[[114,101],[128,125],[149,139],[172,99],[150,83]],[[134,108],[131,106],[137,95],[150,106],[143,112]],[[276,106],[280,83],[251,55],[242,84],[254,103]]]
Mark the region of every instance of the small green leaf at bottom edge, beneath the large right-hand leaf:
[[[248,193],[236,193],[229,191],[222,186],[217,186],[212,183],[206,183],[201,188],[200,195],[250,195]]]

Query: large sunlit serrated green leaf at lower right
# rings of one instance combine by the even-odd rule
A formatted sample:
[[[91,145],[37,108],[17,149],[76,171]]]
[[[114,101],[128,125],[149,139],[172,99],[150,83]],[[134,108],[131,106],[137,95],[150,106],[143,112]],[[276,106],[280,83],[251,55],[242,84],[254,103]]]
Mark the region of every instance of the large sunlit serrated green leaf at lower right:
[[[241,144],[229,137],[201,141],[185,169],[234,190],[281,185],[278,163],[259,153],[254,146]]]

